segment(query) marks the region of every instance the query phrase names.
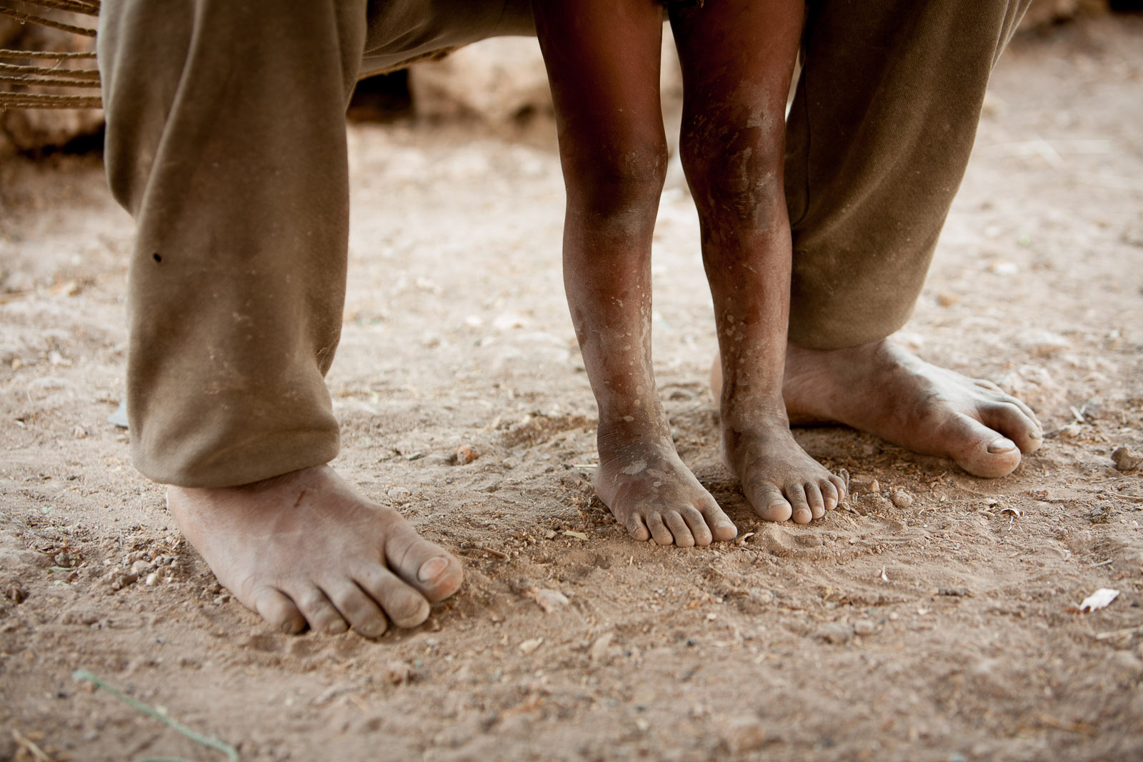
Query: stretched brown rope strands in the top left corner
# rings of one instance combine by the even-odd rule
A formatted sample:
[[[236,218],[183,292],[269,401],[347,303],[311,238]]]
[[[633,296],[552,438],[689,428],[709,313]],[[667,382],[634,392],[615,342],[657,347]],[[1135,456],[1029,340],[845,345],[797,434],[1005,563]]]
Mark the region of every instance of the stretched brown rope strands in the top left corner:
[[[22,25],[38,24],[94,39],[93,26],[70,23],[77,14],[98,16],[99,0],[0,0],[0,16]],[[0,111],[98,109],[99,70],[94,64],[94,51],[0,48]]]

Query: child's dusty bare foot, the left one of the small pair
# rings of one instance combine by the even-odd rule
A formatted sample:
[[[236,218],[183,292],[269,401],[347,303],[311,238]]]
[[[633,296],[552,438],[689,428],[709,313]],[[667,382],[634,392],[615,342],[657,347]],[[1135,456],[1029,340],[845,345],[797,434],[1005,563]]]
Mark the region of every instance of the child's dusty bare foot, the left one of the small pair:
[[[692,547],[738,534],[669,439],[601,438],[596,492],[638,540]]]

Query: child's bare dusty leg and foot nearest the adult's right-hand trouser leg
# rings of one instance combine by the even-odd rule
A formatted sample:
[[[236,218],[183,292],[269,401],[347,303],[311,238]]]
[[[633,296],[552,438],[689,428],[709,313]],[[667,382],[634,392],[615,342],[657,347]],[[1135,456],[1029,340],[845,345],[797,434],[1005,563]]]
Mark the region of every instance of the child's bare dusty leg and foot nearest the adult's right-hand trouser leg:
[[[698,208],[714,300],[724,452],[759,515],[809,522],[845,495],[790,434],[782,368],[790,225],[782,187],[786,93],[801,2],[674,10],[682,64],[680,155]]]

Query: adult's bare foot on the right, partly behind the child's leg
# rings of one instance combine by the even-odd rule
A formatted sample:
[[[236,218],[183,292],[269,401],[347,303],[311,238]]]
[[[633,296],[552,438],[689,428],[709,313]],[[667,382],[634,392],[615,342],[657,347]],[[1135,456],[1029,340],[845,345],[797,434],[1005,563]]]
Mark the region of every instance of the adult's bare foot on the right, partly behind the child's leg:
[[[888,339],[832,351],[790,346],[783,395],[793,424],[846,424],[952,458],[976,476],[1012,473],[1021,452],[1044,442],[1032,409],[996,384],[925,362]]]

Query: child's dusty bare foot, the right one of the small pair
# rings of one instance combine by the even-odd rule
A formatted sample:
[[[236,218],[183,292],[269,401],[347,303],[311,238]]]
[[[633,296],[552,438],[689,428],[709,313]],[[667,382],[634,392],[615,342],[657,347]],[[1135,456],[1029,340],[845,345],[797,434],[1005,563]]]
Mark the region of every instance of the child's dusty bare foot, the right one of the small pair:
[[[807,524],[846,497],[845,482],[809,457],[782,425],[740,430],[722,422],[722,455],[766,521]]]

